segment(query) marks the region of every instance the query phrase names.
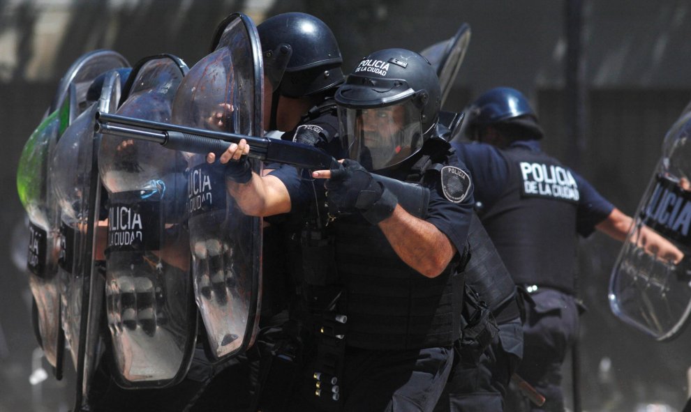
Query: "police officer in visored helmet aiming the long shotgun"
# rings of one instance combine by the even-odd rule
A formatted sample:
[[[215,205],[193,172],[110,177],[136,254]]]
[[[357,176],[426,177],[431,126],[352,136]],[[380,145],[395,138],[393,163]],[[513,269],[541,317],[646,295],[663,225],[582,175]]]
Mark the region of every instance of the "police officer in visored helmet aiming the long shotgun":
[[[370,54],[341,86],[336,102],[348,159],[343,169],[311,175],[328,179],[328,208],[322,207],[321,185],[302,183],[322,199],[308,215],[326,227],[321,251],[332,259],[322,257],[326,270],[312,271],[311,284],[342,291],[322,310],[318,333],[341,351],[318,349],[310,364],[318,369],[305,371],[312,379],[308,389],[340,399],[345,410],[431,411],[460,335],[470,176],[448,164],[450,146],[436,134],[438,79],[419,54]],[[231,168],[242,170],[243,151],[244,142],[231,146],[221,162],[232,160]],[[382,183],[372,172],[390,180]],[[247,180],[233,176],[229,190],[246,213],[304,208],[288,185],[277,192],[259,176],[244,174]],[[400,190],[394,182],[405,185],[401,181],[417,184]],[[421,199],[428,201],[416,208]]]

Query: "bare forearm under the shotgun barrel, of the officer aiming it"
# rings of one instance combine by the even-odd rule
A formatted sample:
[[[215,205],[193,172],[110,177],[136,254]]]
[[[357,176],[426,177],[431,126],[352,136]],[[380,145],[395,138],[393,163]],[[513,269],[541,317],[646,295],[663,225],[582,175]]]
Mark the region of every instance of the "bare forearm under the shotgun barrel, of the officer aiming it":
[[[264,217],[290,212],[288,189],[274,176],[259,176],[253,172],[247,183],[228,180],[226,186],[246,215]]]

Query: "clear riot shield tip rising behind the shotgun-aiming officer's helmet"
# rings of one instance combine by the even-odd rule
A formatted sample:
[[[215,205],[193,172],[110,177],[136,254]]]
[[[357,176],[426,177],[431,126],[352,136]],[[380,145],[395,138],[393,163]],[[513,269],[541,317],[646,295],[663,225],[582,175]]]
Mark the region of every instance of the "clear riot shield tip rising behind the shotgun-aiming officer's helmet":
[[[444,107],[444,102],[449,96],[456,75],[459,73],[459,68],[461,68],[461,63],[463,63],[463,58],[466,56],[469,44],[470,26],[467,23],[463,23],[452,38],[440,41],[420,52],[437,70],[442,91],[440,107]]]

